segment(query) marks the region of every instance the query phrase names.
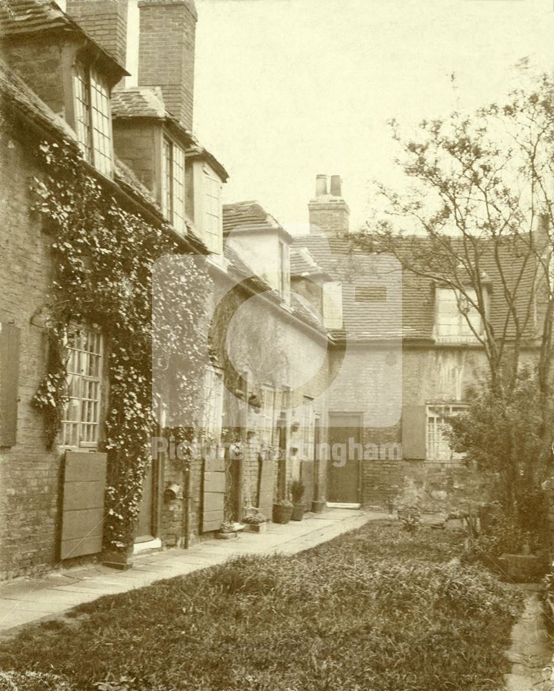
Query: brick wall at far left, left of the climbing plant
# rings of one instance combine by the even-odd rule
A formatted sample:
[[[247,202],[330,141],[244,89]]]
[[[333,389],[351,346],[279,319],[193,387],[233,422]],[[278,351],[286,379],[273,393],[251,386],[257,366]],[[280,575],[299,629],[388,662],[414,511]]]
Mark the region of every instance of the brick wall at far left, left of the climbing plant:
[[[38,173],[18,138],[5,135],[0,146],[0,321],[21,328],[17,443],[0,448],[0,578],[10,578],[55,562],[60,455],[46,451],[42,417],[31,406],[46,354],[44,330],[32,318],[52,270],[50,238],[30,211],[30,178]]]

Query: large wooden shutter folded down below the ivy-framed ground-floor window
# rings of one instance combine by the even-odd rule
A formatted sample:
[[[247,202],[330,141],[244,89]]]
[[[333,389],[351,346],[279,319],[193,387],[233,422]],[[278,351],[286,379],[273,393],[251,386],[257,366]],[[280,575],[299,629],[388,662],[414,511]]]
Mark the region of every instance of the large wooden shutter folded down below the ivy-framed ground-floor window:
[[[60,558],[102,550],[106,454],[66,451]]]

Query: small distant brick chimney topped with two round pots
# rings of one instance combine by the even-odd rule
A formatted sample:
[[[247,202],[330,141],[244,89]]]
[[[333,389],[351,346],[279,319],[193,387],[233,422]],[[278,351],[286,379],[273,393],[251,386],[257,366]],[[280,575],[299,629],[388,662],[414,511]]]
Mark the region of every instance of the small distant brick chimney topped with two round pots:
[[[316,176],[316,196],[309,201],[309,232],[336,238],[348,232],[350,209],[342,196],[341,176],[332,175],[327,193],[327,176]]]

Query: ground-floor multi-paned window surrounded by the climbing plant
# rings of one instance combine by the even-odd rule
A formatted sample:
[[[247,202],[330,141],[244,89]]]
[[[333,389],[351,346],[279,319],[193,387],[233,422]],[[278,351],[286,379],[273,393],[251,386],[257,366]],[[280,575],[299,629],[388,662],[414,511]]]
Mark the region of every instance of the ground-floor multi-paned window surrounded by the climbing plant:
[[[102,395],[102,334],[72,326],[66,336],[67,397],[63,446],[96,446]]]

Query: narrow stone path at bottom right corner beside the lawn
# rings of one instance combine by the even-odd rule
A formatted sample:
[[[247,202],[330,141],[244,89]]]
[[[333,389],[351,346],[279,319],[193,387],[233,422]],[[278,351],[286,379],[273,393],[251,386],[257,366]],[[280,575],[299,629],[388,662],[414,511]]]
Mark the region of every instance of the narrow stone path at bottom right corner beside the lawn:
[[[506,691],[554,691],[554,681],[544,668],[551,665],[552,642],[544,627],[544,614],[539,594],[526,598],[525,607],[515,623],[512,644],[506,653],[512,663],[511,674],[504,675]]]

